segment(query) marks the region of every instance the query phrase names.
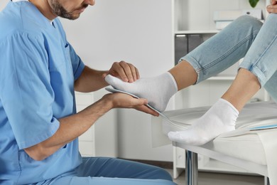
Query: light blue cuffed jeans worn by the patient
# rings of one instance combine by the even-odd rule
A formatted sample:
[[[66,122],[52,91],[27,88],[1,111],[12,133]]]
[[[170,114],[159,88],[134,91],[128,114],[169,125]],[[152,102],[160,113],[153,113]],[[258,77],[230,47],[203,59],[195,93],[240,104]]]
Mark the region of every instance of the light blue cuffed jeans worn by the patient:
[[[244,58],[239,68],[256,75],[261,87],[277,101],[276,38],[277,14],[270,14],[264,24],[251,16],[241,16],[181,60],[192,65],[200,83]]]

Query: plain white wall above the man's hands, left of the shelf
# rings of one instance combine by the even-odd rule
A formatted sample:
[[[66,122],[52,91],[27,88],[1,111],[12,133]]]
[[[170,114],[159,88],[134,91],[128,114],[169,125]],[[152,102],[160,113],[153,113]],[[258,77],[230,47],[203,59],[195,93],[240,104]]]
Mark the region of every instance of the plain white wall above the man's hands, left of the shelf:
[[[114,61],[126,60],[142,76],[156,75],[172,66],[170,4],[101,0],[76,21],[63,23],[68,40],[92,68],[107,69]]]

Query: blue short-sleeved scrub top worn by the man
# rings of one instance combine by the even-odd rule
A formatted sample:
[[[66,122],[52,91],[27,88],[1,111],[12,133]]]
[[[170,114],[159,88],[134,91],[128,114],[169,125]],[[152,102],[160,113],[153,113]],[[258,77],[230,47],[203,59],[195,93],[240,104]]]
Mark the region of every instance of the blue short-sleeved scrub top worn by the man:
[[[28,1],[0,13],[0,184],[31,184],[70,174],[80,165],[78,142],[43,161],[24,148],[57,131],[75,114],[74,81],[85,65],[67,42],[58,18],[49,20]]]

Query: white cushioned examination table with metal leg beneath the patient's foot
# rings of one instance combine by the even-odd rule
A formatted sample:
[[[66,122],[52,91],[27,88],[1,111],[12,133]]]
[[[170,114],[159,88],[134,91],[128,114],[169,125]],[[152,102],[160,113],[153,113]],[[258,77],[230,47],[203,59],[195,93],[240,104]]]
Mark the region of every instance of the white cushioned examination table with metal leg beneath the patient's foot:
[[[183,130],[192,125],[209,107],[188,108],[163,112],[163,117],[153,117],[153,147],[169,144],[168,132]],[[173,142],[187,151],[186,183],[197,184],[197,154],[217,159],[256,174],[268,176],[271,185],[277,184],[277,129],[249,130],[253,127],[277,124],[275,102],[253,102],[239,113],[236,130],[219,135],[202,146]]]

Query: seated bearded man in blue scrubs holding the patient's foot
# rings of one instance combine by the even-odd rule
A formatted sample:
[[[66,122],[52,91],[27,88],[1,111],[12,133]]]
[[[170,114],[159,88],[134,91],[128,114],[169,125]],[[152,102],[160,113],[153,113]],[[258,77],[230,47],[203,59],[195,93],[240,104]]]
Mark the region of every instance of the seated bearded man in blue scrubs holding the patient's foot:
[[[115,107],[157,115],[145,99],[104,95],[76,114],[75,90],[107,86],[104,76],[139,78],[121,61],[85,66],[58,16],[76,19],[94,0],[13,0],[0,13],[0,184],[174,184],[163,169],[111,158],[82,158],[82,133]]]

